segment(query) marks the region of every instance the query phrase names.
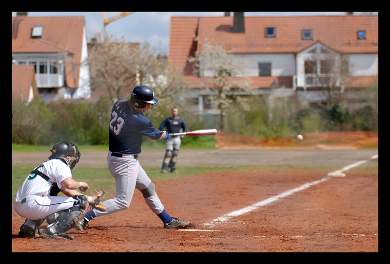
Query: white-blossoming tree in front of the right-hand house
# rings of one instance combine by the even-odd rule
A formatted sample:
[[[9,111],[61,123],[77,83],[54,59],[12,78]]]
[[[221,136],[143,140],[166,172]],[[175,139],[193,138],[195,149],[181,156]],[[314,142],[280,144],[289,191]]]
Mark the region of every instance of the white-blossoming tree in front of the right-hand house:
[[[195,52],[195,57],[189,57],[188,61],[194,63],[194,74],[201,77],[200,85],[209,94],[207,100],[218,109],[219,128],[223,130],[223,115],[229,106],[236,103],[247,109],[242,94],[254,92],[250,78],[245,77],[245,69],[250,63],[234,57],[223,45],[212,45],[207,40],[201,51]]]

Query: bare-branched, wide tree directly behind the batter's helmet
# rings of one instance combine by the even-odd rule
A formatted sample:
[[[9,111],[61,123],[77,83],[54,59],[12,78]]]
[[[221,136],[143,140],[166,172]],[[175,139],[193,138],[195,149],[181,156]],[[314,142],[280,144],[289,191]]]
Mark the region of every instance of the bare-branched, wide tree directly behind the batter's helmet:
[[[181,85],[184,78],[168,70],[166,60],[157,55],[148,42],[128,43],[123,37],[118,39],[104,31],[92,39],[87,60],[91,88],[107,92],[112,102],[130,98],[137,85],[153,88],[156,98],[162,102],[167,98],[172,101],[182,94],[179,90],[184,87]]]

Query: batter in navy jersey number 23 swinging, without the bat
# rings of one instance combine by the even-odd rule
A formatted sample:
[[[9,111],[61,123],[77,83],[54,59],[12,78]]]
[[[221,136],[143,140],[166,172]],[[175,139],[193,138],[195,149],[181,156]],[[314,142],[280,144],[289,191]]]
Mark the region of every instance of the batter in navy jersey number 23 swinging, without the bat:
[[[156,105],[157,102],[153,89],[141,85],[133,89],[130,100],[122,98],[115,103],[111,113],[107,163],[115,178],[117,194],[113,199],[103,202],[106,211],[88,211],[78,223],[78,229],[84,230],[94,217],[129,208],[135,189],[143,194],[146,204],[161,219],[164,228],[181,228],[190,223],[173,218],[165,211],[156,194],[155,185],[137,159],[141,152],[142,136],[152,140],[169,139],[167,132],[157,130],[150,119],[144,116],[150,105]]]

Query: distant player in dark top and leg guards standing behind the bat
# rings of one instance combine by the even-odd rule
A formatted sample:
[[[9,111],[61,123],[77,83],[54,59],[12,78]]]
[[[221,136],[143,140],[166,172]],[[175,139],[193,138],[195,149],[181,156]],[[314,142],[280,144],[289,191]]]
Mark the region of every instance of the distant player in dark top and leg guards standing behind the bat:
[[[163,130],[166,127],[169,134],[179,133],[180,129],[182,129],[182,132],[186,132],[186,125],[183,119],[177,116],[179,114],[177,107],[172,107],[171,113],[172,116],[165,119],[158,127],[158,130]],[[183,136],[172,136],[165,141],[165,157],[162,162],[161,173],[166,173],[168,168],[170,168],[170,172],[176,173],[177,155],[182,138]]]

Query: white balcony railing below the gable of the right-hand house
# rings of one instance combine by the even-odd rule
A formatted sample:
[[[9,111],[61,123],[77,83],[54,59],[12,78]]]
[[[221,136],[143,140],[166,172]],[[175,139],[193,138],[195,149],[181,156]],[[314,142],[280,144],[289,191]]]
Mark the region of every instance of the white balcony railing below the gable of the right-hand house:
[[[302,87],[306,90],[308,87],[328,86],[340,86],[340,78],[337,78],[334,74],[305,74],[292,76],[292,87],[294,90],[296,90],[297,87]]]

